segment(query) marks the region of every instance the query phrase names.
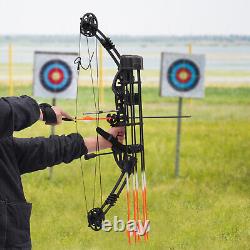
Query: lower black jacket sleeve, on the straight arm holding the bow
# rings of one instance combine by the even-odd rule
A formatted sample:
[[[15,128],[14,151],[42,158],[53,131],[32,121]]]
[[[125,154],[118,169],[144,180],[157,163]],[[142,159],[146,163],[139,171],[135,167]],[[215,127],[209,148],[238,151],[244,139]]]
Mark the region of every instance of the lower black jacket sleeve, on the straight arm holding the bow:
[[[69,163],[87,154],[88,150],[81,135],[49,138],[14,138],[13,139],[20,174],[42,170],[47,167]]]

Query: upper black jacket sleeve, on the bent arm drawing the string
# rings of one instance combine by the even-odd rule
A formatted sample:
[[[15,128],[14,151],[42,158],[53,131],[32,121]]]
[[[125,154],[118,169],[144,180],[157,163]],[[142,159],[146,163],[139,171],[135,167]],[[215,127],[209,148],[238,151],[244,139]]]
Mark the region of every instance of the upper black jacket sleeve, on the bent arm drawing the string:
[[[0,138],[31,126],[39,116],[39,106],[31,97],[0,98]]]

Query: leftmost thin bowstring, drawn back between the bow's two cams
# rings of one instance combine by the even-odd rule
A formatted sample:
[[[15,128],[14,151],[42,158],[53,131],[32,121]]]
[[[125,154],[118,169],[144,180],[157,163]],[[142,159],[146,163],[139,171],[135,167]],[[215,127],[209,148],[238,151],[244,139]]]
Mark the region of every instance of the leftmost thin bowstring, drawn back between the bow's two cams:
[[[79,34],[79,39],[78,39],[78,55],[81,58],[81,33]],[[75,127],[76,127],[76,132],[79,134],[79,129],[78,129],[78,97],[79,97],[79,76],[80,76],[80,68],[77,68],[77,87],[76,87],[76,102],[75,102]],[[83,171],[83,163],[82,163],[82,156],[80,157],[80,169],[81,169],[81,178],[82,178],[82,186],[83,186],[83,198],[85,201],[85,208],[86,208],[86,214],[88,214],[88,204],[87,204],[87,196],[86,196],[86,185],[85,185],[85,180],[84,180],[84,171]]]

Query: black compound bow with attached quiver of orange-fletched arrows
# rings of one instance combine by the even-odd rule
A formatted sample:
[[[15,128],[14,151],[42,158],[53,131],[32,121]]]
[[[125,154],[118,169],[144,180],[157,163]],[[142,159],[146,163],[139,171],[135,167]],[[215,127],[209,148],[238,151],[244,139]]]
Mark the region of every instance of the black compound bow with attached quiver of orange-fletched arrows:
[[[134,220],[139,219],[139,181],[137,167],[140,166],[142,175],[142,214],[143,222],[147,220],[147,196],[146,196],[146,175],[145,175],[145,158],[144,158],[144,138],[143,138],[143,115],[142,115],[142,94],[141,94],[141,76],[140,71],[143,69],[143,58],[136,55],[120,55],[110,38],[106,37],[98,28],[98,21],[94,14],[86,13],[81,18],[80,36],[87,39],[95,37],[109,53],[118,71],[113,79],[112,91],[115,96],[115,112],[107,115],[107,121],[113,127],[125,128],[124,144],[114,138],[109,133],[97,126],[96,132],[110,141],[112,144],[112,154],[121,174],[117,179],[112,191],[100,207],[94,207],[87,213],[88,225],[95,231],[102,228],[102,222],[105,215],[113,207],[119,198],[122,190],[127,185],[128,209],[130,210],[129,201],[129,177],[133,175],[133,198],[134,198]],[[88,41],[88,40],[87,40]],[[88,49],[89,50],[89,49]],[[89,66],[91,68],[92,56],[89,54]],[[78,71],[81,66],[81,57],[79,55]],[[88,68],[87,67],[87,68]],[[86,69],[86,68],[85,68]],[[97,110],[97,114],[102,111]],[[111,153],[111,152],[110,152]],[[96,156],[110,154],[96,153],[88,154],[85,160]],[[130,219],[130,211],[128,211]],[[138,228],[137,228],[138,230]],[[136,230],[135,230],[136,231]],[[139,237],[134,232],[135,238]],[[130,233],[129,233],[130,235]],[[147,234],[145,235],[147,237]],[[129,236],[130,237],[130,236]]]

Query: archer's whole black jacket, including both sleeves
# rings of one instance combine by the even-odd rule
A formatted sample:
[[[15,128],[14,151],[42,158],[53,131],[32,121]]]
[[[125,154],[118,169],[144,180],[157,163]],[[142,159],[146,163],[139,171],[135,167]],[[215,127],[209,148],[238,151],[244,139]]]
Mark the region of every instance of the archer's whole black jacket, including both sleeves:
[[[13,132],[39,119],[28,96],[0,98],[0,249],[30,249],[31,204],[23,193],[21,175],[69,163],[87,153],[79,134],[49,138],[13,138]],[[18,248],[18,249],[19,249]]]

